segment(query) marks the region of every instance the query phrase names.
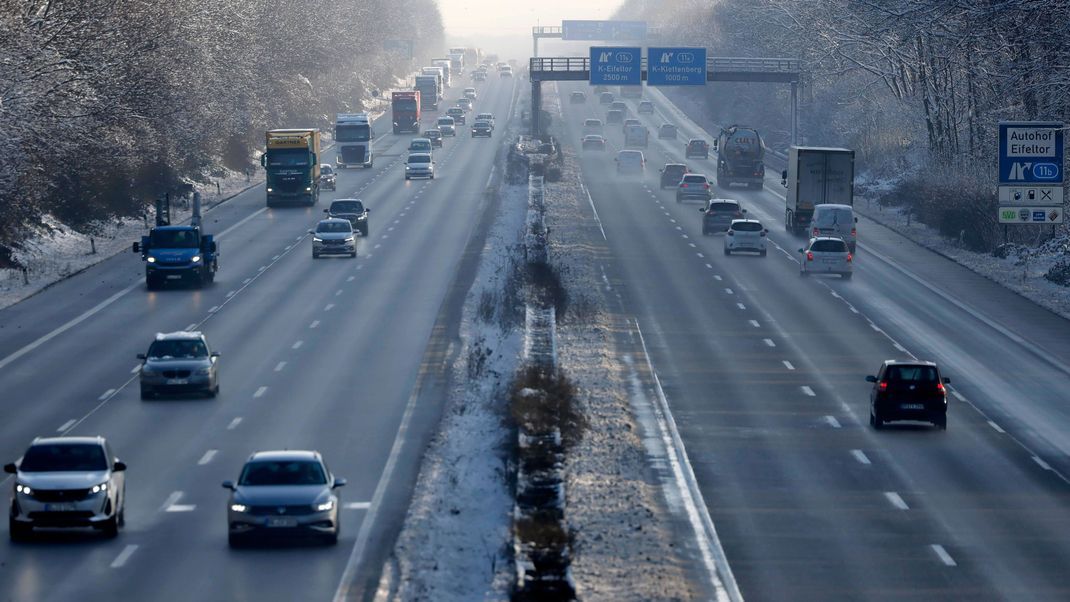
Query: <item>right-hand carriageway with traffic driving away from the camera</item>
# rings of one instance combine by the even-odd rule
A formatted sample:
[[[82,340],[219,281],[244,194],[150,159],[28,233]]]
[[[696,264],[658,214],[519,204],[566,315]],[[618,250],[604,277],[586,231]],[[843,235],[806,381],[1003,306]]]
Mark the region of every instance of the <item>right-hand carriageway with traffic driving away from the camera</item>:
[[[586,84],[557,90],[590,242],[642,329],[745,599],[1070,599],[1065,320],[866,219],[853,280],[801,279],[779,167],[765,190],[716,189],[771,243],[766,258],[725,257],[701,204],[657,180],[669,161],[713,176],[713,154],[683,160],[710,133],[658,93],[655,115],[626,101],[652,137],[646,176],[617,176],[618,125],[607,152],[579,150],[583,119],[607,107]],[[586,103],[569,104],[572,90]],[[666,122],[676,140],[656,139]],[[952,380],[948,430],[874,431],[863,377],[912,356]]]

